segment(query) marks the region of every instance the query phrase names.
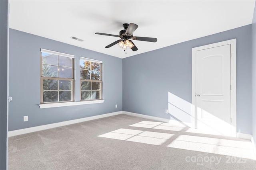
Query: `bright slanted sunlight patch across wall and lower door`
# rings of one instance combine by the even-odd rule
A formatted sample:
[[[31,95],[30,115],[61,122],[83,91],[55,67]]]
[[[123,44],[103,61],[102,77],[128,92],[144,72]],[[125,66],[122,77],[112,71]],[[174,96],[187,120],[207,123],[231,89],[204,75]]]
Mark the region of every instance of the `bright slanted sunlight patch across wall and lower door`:
[[[195,109],[195,107],[190,102],[168,92],[168,113],[173,120],[180,122],[180,124],[186,127],[196,127],[197,129],[207,130],[212,134],[231,135],[231,121],[224,121],[222,117],[216,116],[220,115],[215,113],[216,109],[206,111],[200,107],[196,107]],[[196,114],[194,114],[194,111]],[[196,125],[194,125],[194,121]]]

